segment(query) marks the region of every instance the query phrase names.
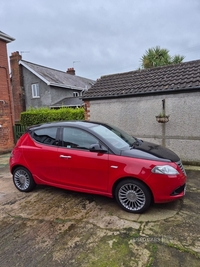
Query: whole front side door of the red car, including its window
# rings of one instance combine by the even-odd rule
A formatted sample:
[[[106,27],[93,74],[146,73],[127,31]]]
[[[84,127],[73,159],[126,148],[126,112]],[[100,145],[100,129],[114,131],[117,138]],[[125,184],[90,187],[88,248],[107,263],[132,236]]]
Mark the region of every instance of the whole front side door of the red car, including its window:
[[[64,127],[59,147],[59,170],[62,183],[83,191],[107,191],[108,153],[91,152],[90,145],[99,140],[85,130]]]

